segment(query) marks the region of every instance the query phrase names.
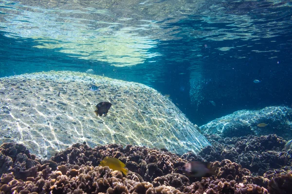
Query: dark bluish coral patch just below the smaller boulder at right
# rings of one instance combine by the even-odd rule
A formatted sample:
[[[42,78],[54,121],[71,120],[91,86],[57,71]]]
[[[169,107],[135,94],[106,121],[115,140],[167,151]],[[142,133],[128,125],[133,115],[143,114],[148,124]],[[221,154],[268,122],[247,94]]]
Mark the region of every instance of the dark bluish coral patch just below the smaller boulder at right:
[[[292,151],[281,151],[286,141],[276,135],[224,139],[211,135],[207,139],[213,146],[199,153],[207,161],[230,159],[260,176],[269,169],[292,165]]]

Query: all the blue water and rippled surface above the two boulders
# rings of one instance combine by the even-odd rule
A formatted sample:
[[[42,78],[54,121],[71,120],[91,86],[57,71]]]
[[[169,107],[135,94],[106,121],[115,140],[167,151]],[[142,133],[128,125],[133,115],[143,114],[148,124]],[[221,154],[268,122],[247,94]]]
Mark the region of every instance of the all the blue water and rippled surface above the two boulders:
[[[292,105],[291,2],[92,2],[0,1],[0,77],[92,69],[170,95],[198,125]]]

